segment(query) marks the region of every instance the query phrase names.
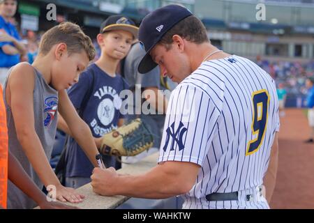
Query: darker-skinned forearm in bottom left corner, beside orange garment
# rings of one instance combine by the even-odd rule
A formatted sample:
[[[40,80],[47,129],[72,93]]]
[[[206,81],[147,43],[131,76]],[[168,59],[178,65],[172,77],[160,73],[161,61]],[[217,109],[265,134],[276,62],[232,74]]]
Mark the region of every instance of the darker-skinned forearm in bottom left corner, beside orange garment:
[[[9,152],[8,156],[8,178],[14,183],[15,186],[19,187],[27,196],[33,199],[36,203],[42,203],[46,197],[41,192],[35,183],[29,178],[27,173],[24,171],[20,162],[18,162],[13,154]]]

